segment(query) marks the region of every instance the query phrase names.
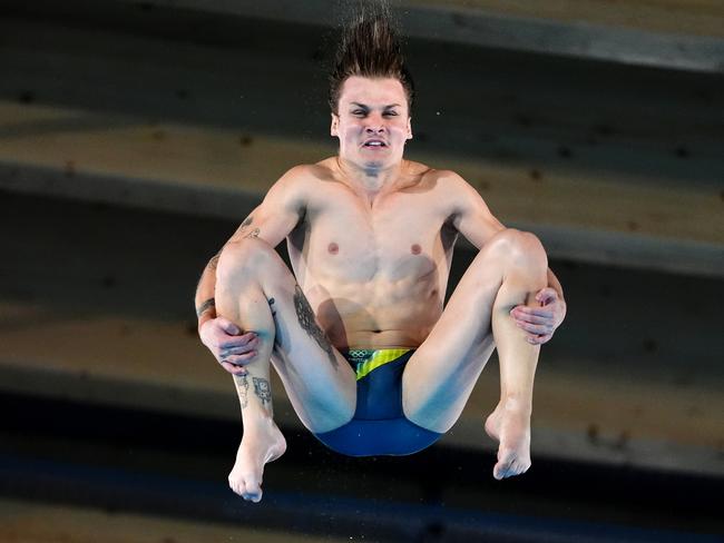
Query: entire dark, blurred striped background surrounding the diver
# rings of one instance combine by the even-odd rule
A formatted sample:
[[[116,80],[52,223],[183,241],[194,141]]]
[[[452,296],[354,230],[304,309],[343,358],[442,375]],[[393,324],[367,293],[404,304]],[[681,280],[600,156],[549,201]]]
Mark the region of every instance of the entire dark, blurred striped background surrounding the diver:
[[[193,295],[335,152],[339,2],[0,0],[0,541],[722,541],[724,4],[393,6],[409,158],[535,231],[565,288],[531,470],[491,476],[493,357],[402,458],[326,451],[275,382],[288,451],[262,504],[227,487],[238,406]]]

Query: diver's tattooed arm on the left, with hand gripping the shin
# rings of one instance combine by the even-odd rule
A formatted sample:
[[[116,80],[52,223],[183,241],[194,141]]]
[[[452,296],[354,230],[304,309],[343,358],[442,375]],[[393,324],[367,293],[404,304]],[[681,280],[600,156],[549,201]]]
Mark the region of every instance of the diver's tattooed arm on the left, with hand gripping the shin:
[[[274,184],[264,201],[246,217],[224,247],[245,237],[255,237],[276,247],[304,216],[305,200],[303,182],[301,182],[304,176],[306,176],[304,166],[297,166],[287,171]],[[216,316],[214,299],[216,265],[223,250],[222,247],[208,261],[196,288],[195,306],[198,317],[198,335],[219,364],[222,363],[222,349],[229,348],[234,348],[238,354],[225,357],[224,362],[243,364],[245,359],[252,357],[251,352],[255,346],[255,336],[253,334],[239,335],[242,330],[234,323]],[[224,367],[229,371],[229,367]]]

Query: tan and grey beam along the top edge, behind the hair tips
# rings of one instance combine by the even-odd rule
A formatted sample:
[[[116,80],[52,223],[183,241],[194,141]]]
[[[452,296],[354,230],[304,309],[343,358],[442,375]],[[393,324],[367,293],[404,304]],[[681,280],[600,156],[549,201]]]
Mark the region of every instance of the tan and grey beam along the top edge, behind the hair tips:
[[[315,26],[335,26],[342,14],[326,0],[147,3]],[[404,32],[412,38],[634,66],[724,71],[724,10],[714,3],[642,7],[632,1],[606,6],[589,0],[541,8],[521,1],[408,1],[399,11]]]

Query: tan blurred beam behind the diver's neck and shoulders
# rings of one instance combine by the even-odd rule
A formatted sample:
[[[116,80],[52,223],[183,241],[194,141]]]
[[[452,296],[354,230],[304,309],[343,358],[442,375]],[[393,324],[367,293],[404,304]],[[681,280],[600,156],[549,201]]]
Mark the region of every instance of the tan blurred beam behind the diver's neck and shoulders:
[[[166,154],[158,142],[151,142],[154,149],[147,152],[144,140],[154,130],[164,131],[173,151]],[[84,141],[70,136],[67,145],[59,136],[47,146],[35,140],[28,147],[31,164],[8,161],[21,157],[17,148],[7,149],[10,152],[4,157],[0,150],[0,188],[241,221],[286,165],[325,155],[314,145],[254,138],[253,150],[236,161],[232,158],[239,154],[233,150],[231,134],[207,132],[196,139],[179,127],[131,131],[136,134],[118,138],[108,132],[85,135]],[[178,142],[184,140],[185,149],[178,152]],[[208,156],[203,155],[214,141],[228,148],[232,160],[207,169]],[[109,164],[104,157],[111,155]],[[541,186],[522,168],[431,161],[436,162],[467,177],[505,224],[536,233],[551,258],[724,276],[721,204],[706,189],[701,194],[692,187],[657,189],[586,179],[585,174],[575,172],[549,175]],[[692,214],[692,209],[699,213]]]

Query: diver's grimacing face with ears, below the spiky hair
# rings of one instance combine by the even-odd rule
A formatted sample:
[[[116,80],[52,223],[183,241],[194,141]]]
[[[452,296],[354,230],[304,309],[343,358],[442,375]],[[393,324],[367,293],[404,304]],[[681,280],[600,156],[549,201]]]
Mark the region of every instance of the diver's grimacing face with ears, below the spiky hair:
[[[331,134],[340,140],[340,158],[364,169],[382,169],[402,160],[412,127],[398,79],[350,77],[342,85],[337,111],[332,113]]]

